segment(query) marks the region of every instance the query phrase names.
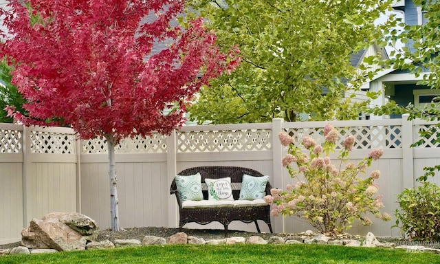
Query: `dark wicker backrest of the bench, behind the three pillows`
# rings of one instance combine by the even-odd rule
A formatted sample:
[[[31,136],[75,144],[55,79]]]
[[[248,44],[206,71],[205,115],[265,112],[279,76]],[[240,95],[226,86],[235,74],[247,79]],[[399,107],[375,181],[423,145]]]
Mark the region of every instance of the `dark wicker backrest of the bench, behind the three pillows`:
[[[231,188],[232,188],[232,196],[235,200],[239,199],[240,189],[241,189],[241,180],[243,179],[243,175],[252,175],[256,177],[264,176],[259,171],[254,170],[252,168],[243,168],[236,166],[202,166],[202,167],[193,167],[182,170],[178,175],[195,175],[196,173],[200,173],[201,175],[201,189],[203,192],[203,199],[208,199],[208,186],[205,183],[205,179],[219,179],[224,177],[231,178]],[[272,186],[269,182],[266,184],[266,195],[270,195],[270,189]],[[177,191],[177,186],[175,184],[175,180],[170,187],[170,194],[173,194]]]

